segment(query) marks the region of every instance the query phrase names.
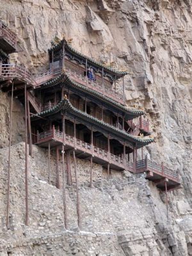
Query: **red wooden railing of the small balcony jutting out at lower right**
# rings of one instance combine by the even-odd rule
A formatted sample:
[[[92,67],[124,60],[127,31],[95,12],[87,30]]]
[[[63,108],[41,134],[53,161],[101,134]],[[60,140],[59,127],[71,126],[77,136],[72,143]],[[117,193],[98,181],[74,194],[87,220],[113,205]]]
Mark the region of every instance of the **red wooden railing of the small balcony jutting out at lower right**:
[[[150,159],[142,159],[136,162],[136,172],[153,172],[172,180],[179,180],[179,173],[171,170],[163,164],[158,164]]]

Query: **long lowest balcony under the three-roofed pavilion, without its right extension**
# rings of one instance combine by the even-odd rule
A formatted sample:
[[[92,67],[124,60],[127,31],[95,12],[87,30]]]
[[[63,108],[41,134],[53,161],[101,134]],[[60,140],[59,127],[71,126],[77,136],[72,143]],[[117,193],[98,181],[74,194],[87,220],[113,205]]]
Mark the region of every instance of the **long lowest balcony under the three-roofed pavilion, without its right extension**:
[[[93,156],[93,161],[95,163],[102,164],[106,167],[110,163],[110,168],[115,170],[129,170],[129,172],[134,172],[134,166],[131,162],[125,159],[115,156],[109,153],[107,150],[95,147],[89,143],[78,140],[77,138],[65,134],[63,140],[63,132],[52,129],[51,131],[45,131],[37,134],[36,144],[40,147],[48,148],[50,143],[51,147],[56,147],[65,144],[65,150],[74,149],[76,150],[77,156],[80,158],[87,159],[89,156]]]

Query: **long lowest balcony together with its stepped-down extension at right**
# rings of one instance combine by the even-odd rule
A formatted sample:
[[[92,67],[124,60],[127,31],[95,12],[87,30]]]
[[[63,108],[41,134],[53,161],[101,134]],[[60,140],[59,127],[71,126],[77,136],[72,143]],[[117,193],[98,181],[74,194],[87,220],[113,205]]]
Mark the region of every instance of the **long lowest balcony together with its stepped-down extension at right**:
[[[65,150],[75,150],[76,156],[82,159],[93,157],[93,162],[99,163],[105,168],[108,164],[114,170],[127,170],[132,173],[147,173],[147,179],[152,180],[161,190],[175,189],[180,186],[179,175],[177,171],[171,170],[163,164],[157,164],[150,159],[142,159],[140,161],[127,161],[119,156],[111,154],[107,150],[95,147],[82,140],[78,140],[74,136],[52,129],[51,131],[41,132],[37,135],[36,145],[40,147],[51,148],[58,147],[60,150],[62,145],[65,145]]]

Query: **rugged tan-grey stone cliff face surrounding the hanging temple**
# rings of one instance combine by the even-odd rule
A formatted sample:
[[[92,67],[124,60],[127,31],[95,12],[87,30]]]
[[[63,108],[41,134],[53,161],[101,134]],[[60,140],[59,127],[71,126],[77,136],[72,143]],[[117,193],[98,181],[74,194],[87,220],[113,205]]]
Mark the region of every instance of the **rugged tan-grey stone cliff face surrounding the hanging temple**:
[[[11,177],[12,228],[5,228],[10,99],[1,93],[0,255],[192,255],[191,73],[192,13],[189,0],[1,0],[1,19],[17,31],[11,59],[38,73],[48,67],[54,36],[96,60],[126,69],[128,106],[144,108],[156,140],[146,148],[156,161],[178,169],[182,189],[164,194],[124,173],[107,182],[79,161],[83,231],[77,232],[74,187],[67,188],[70,232],[63,230],[62,193],[47,183],[46,152],[34,147],[29,166],[30,227],[24,223],[23,107],[15,99]],[[17,144],[19,143],[19,144]],[[83,175],[81,175],[81,170]],[[88,171],[87,171],[88,172]],[[97,174],[96,174],[97,173]],[[54,184],[52,159],[52,184]],[[98,181],[100,180],[100,182]],[[50,207],[51,205],[51,207]]]

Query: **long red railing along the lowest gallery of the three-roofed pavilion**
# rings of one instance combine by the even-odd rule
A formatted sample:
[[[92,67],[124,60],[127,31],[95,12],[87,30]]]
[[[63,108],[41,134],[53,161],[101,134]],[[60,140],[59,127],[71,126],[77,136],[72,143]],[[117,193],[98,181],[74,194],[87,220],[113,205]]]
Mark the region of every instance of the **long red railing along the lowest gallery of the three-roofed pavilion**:
[[[93,146],[93,148],[92,148],[91,144],[86,143],[81,140],[78,140],[68,134],[65,134],[65,136],[63,138],[63,132],[54,129],[54,127],[51,131],[45,131],[45,132],[41,132],[41,133],[37,134],[37,144],[44,143],[51,139],[60,141],[61,143],[63,143],[63,141],[64,141],[65,144],[67,144],[73,148],[76,148],[78,150],[86,152],[95,157],[99,157],[100,159],[102,159],[106,162],[109,161],[109,163],[115,164],[116,166],[118,166],[122,169],[129,170],[130,172],[134,172],[134,165],[132,163],[122,159],[121,157],[115,156],[113,154],[109,154],[108,151],[106,151],[102,148],[98,148],[95,146]]]

